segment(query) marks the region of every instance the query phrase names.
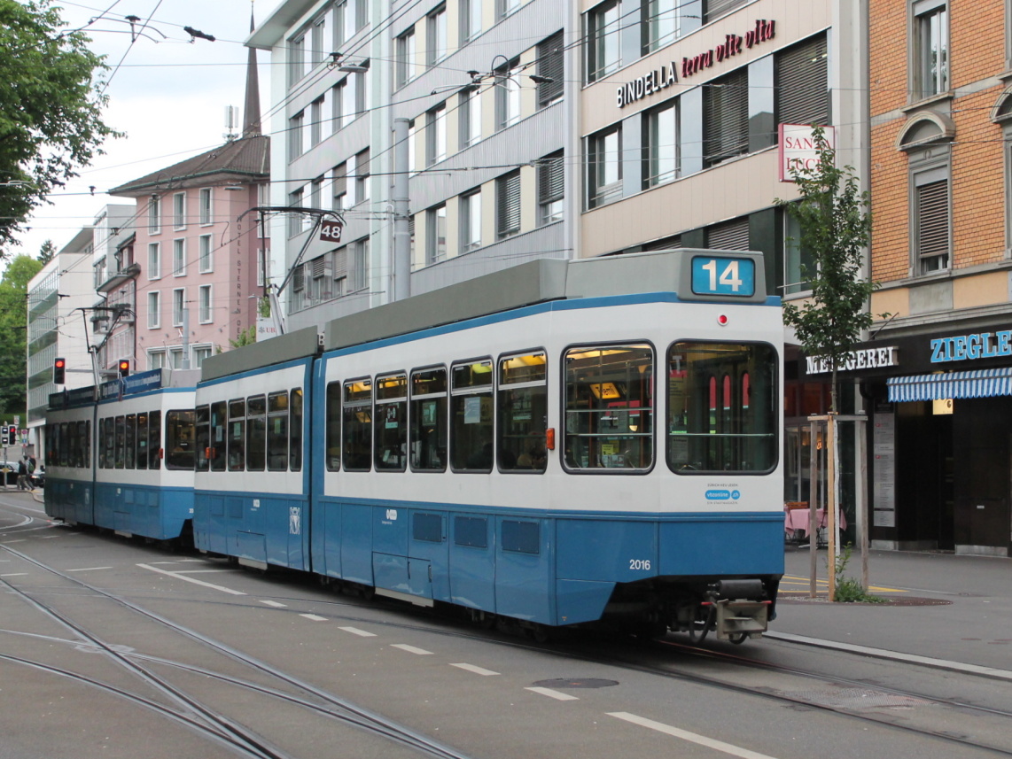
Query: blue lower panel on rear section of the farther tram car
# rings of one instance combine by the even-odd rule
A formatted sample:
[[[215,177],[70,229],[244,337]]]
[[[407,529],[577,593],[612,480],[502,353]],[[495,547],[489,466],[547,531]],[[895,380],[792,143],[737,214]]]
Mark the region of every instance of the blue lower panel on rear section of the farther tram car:
[[[183,533],[193,516],[193,491],[148,485],[95,483],[95,524],[155,540]]]

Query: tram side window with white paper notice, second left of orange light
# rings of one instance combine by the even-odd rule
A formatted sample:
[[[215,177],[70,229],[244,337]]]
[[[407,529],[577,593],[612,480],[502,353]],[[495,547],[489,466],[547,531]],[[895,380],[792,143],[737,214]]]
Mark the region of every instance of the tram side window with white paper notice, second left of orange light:
[[[460,472],[492,472],[492,360],[450,369],[450,463]]]

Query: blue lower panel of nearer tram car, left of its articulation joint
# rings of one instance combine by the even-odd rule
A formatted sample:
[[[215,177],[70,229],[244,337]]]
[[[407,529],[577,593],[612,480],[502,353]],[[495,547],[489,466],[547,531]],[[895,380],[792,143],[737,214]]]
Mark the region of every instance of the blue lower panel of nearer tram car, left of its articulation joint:
[[[306,499],[197,491],[193,543],[200,551],[309,570]]]

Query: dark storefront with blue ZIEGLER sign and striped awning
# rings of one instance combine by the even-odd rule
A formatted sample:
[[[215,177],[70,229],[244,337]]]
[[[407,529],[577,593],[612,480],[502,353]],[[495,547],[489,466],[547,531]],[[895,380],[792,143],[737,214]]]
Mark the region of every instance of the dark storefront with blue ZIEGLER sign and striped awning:
[[[1010,555],[1012,330],[1005,327],[950,327],[860,346],[874,349],[875,365],[865,360],[845,375],[868,411],[873,547]],[[886,355],[893,360],[882,362]]]

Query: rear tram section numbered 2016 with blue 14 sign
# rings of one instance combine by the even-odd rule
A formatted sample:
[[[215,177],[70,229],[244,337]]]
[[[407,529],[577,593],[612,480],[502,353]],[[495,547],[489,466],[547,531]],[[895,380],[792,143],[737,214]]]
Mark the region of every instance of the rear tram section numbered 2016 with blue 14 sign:
[[[758,254],[539,261],[327,325],[312,569],[521,625],[756,637],[783,571]]]

